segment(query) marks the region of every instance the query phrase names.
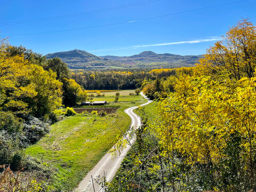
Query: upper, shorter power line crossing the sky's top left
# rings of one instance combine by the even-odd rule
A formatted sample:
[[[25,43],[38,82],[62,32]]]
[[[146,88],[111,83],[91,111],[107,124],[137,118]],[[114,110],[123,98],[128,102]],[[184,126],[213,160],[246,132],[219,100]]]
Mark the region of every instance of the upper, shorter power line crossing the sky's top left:
[[[18,24],[23,24],[23,23],[41,22],[41,21],[65,19],[65,18],[70,18],[70,17],[78,17],[78,16],[82,16],[82,15],[88,15],[88,14],[93,14],[93,13],[100,13],[100,12],[124,9],[124,8],[127,8],[127,7],[133,7],[133,6],[138,6],[138,5],[143,5],[143,4],[153,3],[153,2],[158,2],[158,1],[161,1],[161,0],[147,0],[147,1],[142,1],[142,2],[138,2],[138,3],[131,3],[131,4],[120,5],[120,6],[115,6],[115,7],[110,7],[110,8],[100,9],[100,10],[94,10],[94,11],[87,11],[87,12],[82,12],[82,13],[59,15],[59,16],[55,16],[55,17],[5,22],[5,23],[0,23],[0,26],[18,25]]]

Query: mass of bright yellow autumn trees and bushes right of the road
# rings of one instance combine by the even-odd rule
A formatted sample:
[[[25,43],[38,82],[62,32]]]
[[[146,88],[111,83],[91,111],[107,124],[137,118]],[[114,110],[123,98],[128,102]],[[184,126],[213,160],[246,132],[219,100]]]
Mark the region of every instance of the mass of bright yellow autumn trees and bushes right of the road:
[[[159,116],[143,130],[149,130],[145,139],[139,137],[122,165],[129,171],[120,172],[110,191],[254,191],[255,53],[255,27],[242,20],[195,68],[167,78],[163,89],[170,82],[173,92],[159,98]]]

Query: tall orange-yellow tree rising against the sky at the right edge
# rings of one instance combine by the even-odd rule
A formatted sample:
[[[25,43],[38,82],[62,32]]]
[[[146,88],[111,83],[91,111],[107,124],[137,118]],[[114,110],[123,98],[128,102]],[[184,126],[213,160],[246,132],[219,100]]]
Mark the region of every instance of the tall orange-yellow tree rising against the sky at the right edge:
[[[214,44],[199,66],[207,74],[225,75],[236,81],[242,77],[254,77],[256,63],[256,27],[241,20],[231,27],[222,40]]]

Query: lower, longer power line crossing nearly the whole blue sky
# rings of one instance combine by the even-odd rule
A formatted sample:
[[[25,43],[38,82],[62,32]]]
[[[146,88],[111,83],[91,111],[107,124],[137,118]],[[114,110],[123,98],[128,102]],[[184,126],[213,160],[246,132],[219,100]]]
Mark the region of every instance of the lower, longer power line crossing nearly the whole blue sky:
[[[122,24],[126,24],[126,23],[131,23],[131,22],[138,22],[138,21],[145,21],[145,20],[157,19],[157,18],[162,18],[162,17],[168,17],[168,16],[171,16],[171,15],[177,15],[177,14],[182,14],[182,13],[194,12],[194,11],[199,11],[199,10],[204,10],[204,9],[209,9],[209,8],[213,8],[213,7],[229,5],[229,4],[239,3],[239,2],[245,2],[245,1],[247,1],[247,0],[234,1],[234,2],[229,2],[229,3],[222,3],[222,4],[218,4],[218,5],[206,6],[206,7],[201,7],[201,8],[198,8],[198,9],[181,11],[181,12],[177,12],[177,13],[164,14],[164,15],[159,15],[159,16],[156,16],[156,17],[144,18],[144,19],[139,19],[139,20],[124,21],[124,22],[118,22],[118,23],[110,23],[110,24],[107,24],[107,25],[92,26],[92,27],[82,27],[82,28],[74,28],[74,29],[64,29],[64,30],[55,30],[55,31],[44,31],[44,32],[38,32],[38,33],[13,34],[13,35],[9,35],[9,36],[59,33],[59,32],[65,32],[65,31],[74,31],[74,30],[83,30],[83,29],[92,29],[92,28],[99,28],[99,27],[122,25]]]

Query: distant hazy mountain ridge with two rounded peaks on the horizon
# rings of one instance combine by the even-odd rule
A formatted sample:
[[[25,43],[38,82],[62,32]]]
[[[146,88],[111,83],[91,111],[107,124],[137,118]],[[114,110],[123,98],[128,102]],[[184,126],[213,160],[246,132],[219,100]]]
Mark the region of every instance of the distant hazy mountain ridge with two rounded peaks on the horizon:
[[[144,51],[130,57],[113,55],[96,56],[83,50],[71,50],[46,54],[47,59],[59,57],[71,69],[97,68],[175,68],[190,67],[203,55],[176,55],[171,53],[157,54]]]

